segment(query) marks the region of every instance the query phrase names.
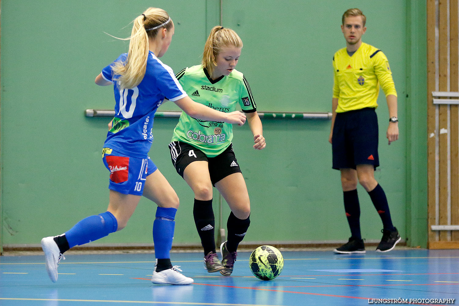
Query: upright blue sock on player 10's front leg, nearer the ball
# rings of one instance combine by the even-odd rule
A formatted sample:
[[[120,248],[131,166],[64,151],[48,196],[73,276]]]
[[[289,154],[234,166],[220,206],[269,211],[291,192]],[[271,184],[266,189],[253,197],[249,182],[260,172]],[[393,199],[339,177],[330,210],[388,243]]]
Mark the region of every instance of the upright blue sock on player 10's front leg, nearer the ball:
[[[176,212],[177,209],[172,207],[156,209],[156,219],[153,222],[153,243],[155,244],[155,257],[158,259],[170,258]]]

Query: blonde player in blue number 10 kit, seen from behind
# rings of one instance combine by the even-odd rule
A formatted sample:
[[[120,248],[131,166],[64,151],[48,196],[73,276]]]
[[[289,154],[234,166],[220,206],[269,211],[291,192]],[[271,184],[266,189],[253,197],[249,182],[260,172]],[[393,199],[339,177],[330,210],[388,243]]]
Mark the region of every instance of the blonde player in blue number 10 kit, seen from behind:
[[[153,117],[165,96],[200,120],[242,125],[245,116],[238,111],[216,111],[188,97],[172,69],[158,59],[168,50],[173,35],[174,23],[168,13],[159,8],[147,9],[134,19],[129,52],[95,78],[97,85],[113,84],[116,102],[116,115],[102,150],[103,162],[110,171],[109,204],[106,212],[84,218],[62,235],[41,240],[46,270],[53,282],[57,281],[57,266],[65,251],[123,229],[141,195],[158,206],[153,222],[157,265],[151,282],[174,285],[193,282],[170,261],[179,198],[148,157]]]

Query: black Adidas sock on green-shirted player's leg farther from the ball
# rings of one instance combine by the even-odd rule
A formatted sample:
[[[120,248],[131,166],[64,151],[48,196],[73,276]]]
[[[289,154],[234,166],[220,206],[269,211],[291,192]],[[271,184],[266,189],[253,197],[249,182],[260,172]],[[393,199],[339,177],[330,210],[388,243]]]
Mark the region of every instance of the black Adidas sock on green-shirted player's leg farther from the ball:
[[[213,215],[212,200],[202,201],[195,199],[193,217],[204,248],[204,256],[211,251],[215,252],[215,217]]]

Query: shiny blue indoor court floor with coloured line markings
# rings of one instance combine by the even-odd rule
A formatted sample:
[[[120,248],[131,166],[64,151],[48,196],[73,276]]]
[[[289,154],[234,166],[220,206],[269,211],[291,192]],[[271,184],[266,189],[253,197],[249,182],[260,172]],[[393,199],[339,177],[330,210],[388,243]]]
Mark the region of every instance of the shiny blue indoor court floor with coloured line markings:
[[[459,304],[459,250],[281,251],[284,270],[271,281],[252,275],[249,252],[238,253],[230,277],[207,273],[202,253],[171,253],[173,264],[195,280],[186,286],[152,284],[151,253],[68,252],[56,283],[48,278],[43,255],[1,256],[0,305],[354,306],[382,304],[378,299],[401,299],[401,305]],[[415,302],[400,303],[404,299]]]

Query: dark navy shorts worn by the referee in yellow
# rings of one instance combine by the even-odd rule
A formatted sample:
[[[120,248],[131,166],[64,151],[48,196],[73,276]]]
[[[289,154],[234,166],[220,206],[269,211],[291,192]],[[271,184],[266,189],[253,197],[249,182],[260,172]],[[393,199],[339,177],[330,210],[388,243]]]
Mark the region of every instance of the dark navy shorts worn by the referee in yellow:
[[[379,166],[378,117],[374,108],[336,114],[332,134],[333,169]]]

